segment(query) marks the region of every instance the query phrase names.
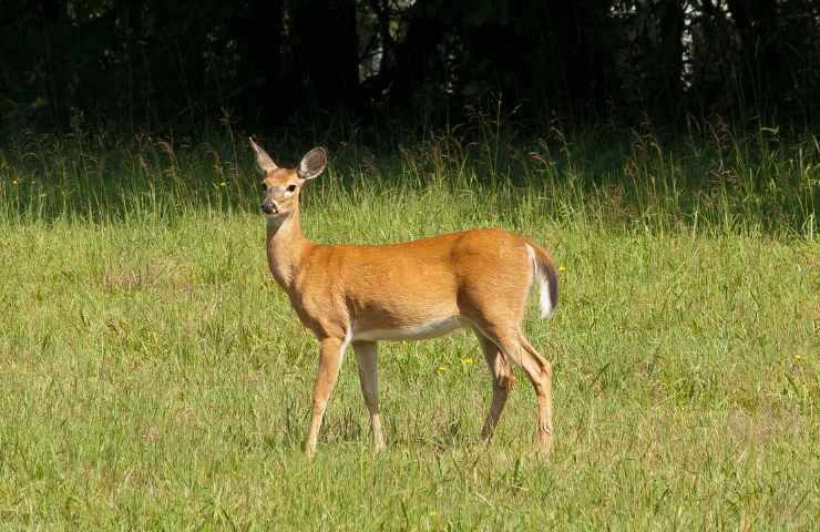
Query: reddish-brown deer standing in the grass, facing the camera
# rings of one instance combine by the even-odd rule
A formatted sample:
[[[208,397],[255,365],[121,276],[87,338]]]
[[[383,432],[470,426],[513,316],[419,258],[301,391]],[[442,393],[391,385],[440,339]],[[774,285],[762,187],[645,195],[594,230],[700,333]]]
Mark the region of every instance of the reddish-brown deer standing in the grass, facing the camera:
[[[339,368],[353,348],[370,416],[376,452],[385,449],[378,406],[377,342],[422,340],[472,329],[492,376],[492,399],[481,431],[490,441],[523,368],[537,399],[537,446],[553,443],[552,366],[530,345],[522,321],[539,285],[541,317],[558,303],[558,276],[550,254],[531,238],[499,228],[475,228],[388,245],[324,245],[301,232],[299,194],[327,166],[314,147],[298,167],[279,167],[253,137],[267,223],[270,274],[301,324],[319,342],[310,424],[304,451],[312,458]]]

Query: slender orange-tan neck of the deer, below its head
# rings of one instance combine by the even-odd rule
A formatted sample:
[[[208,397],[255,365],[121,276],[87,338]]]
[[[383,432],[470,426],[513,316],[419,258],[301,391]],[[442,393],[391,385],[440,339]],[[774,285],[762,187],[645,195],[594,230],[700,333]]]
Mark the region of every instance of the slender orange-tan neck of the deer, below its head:
[[[301,267],[303,256],[312,243],[301,234],[298,208],[286,218],[268,218],[267,223],[267,255],[270,273],[283,288],[290,291]]]

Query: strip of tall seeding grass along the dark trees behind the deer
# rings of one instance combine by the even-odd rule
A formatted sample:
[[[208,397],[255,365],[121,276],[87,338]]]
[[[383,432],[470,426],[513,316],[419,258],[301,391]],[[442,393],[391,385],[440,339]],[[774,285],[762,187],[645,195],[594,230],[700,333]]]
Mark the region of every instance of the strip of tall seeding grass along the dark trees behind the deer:
[[[484,119],[397,150],[369,150],[356,131],[348,135],[327,139],[335,180],[322,186],[335,193],[435,186],[611,229],[817,233],[820,142],[808,134],[783,139],[771,127],[738,134],[717,122],[672,141],[648,126],[574,134],[553,126],[543,137],[517,139]],[[281,164],[295,164],[310,147],[265,141]],[[205,140],[76,129],[21,134],[0,149],[7,222],[255,211],[255,183],[246,135],[229,126]]]

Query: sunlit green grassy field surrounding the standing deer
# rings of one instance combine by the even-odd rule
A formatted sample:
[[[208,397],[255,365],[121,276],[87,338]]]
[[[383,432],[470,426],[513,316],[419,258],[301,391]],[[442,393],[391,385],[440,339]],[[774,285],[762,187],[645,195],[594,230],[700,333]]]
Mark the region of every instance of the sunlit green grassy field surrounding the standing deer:
[[[382,344],[379,456],[347,357],[309,462],[316,342],[267,273],[245,146],[21,136],[0,150],[0,529],[813,530],[817,142],[720,139],[339,147],[304,193],[316,241],[492,225],[553,252],[562,303],[526,329],[556,446],[535,459],[517,370],[480,441],[489,372],[459,334]]]

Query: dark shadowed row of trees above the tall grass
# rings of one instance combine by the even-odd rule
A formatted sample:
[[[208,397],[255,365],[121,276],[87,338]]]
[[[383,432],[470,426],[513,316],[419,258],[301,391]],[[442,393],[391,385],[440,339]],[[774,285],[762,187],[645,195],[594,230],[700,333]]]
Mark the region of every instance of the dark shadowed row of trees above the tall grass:
[[[812,0],[2,0],[0,116],[130,129],[522,123],[690,115],[802,124],[820,101]]]

